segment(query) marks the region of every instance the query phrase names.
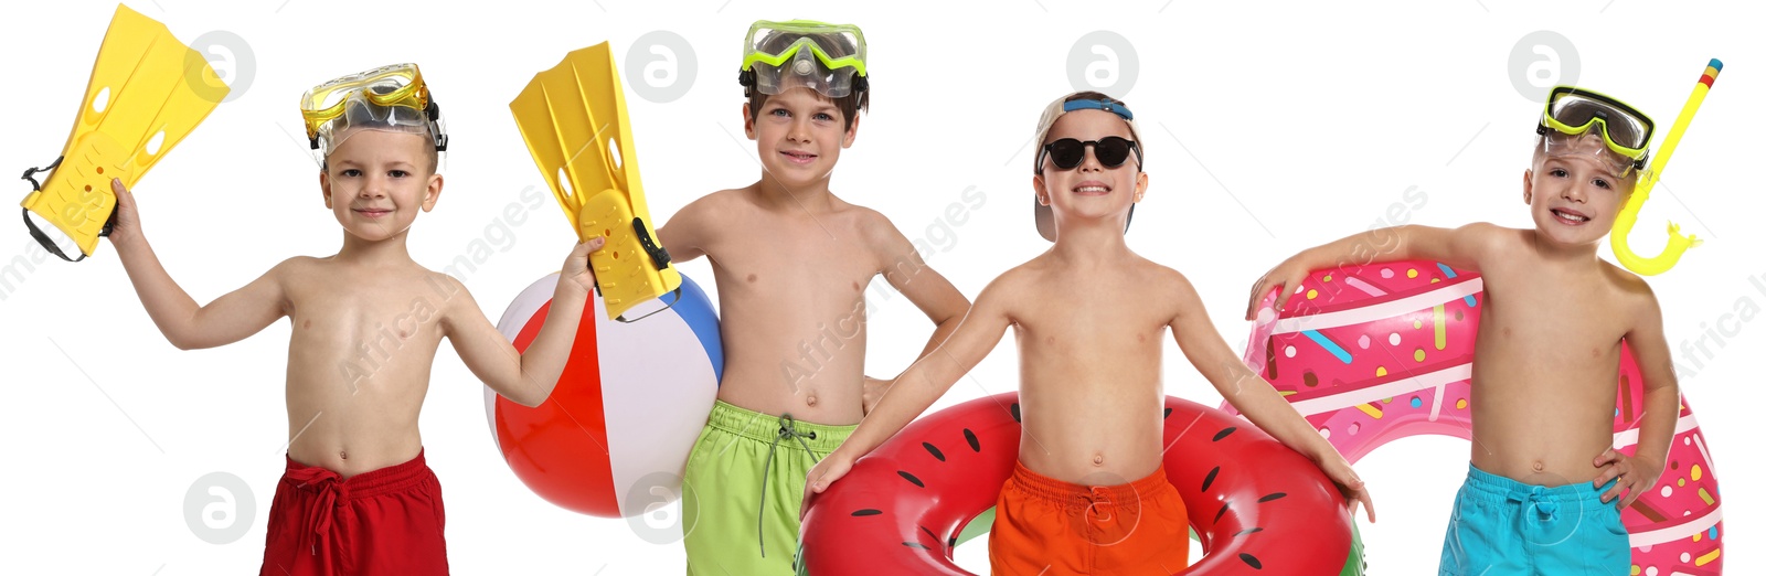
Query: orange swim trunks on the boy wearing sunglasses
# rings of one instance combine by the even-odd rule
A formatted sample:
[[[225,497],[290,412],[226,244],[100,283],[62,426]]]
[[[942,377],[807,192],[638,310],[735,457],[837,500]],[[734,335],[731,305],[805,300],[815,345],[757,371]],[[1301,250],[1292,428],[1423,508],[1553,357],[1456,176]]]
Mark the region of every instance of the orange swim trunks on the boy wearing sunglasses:
[[[987,553],[994,574],[1173,574],[1190,565],[1189,530],[1164,466],[1128,484],[1081,486],[1017,463]]]

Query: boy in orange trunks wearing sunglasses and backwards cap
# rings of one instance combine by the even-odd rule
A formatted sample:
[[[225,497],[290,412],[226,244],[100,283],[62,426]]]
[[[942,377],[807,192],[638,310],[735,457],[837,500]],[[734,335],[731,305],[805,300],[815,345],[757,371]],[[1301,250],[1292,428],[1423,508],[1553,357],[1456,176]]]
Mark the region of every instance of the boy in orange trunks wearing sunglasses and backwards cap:
[[[1171,329],[1233,406],[1310,456],[1344,484],[1351,509],[1367,504],[1372,518],[1349,463],[1240,362],[1189,279],[1123,240],[1146,193],[1128,106],[1097,92],[1060,97],[1044,110],[1037,141],[1037,228],[1054,247],[982,290],[950,339],[908,368],[851,438],[809,472],[811,491],[825,491],[925,412],[1015,327],[1024,442],[994,507],[992,572],[1181,571],[1189,514],[1166,481],[1160,443],[1160,337]]]

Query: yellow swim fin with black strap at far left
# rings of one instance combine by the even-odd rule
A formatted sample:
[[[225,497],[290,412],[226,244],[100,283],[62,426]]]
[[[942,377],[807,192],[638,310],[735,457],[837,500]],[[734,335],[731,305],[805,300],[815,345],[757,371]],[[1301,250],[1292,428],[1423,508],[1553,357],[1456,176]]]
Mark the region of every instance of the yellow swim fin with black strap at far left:
[[[201,53],[166,25],[118,4],[62,155],[25,171],[32,191],[19,205],[30,235],[62,260],[92,256],[117,208],[109,180],[134,187],[226,94]],[[49,171],[41,186],[39,171]],[[32,214],[78,244],[79,258],[67,258]]]

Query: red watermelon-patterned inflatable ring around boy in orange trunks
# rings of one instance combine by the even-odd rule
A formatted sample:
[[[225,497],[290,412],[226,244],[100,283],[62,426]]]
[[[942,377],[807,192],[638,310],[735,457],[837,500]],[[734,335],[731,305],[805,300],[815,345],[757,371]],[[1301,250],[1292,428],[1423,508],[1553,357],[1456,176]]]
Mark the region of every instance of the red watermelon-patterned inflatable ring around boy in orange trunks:
[[[957,534],[998,500],[1019,431],[1017,392],[908,424],[807,502],[798,574],[970,574],[950,560]],[[1346,564],[1346,502],[1300,452],[1240,417],[1178,398],[1166,398],[1164,443],[1166,475],[1206,551],[1181,574],[1303,574],[1321,565],[1335,574]]]

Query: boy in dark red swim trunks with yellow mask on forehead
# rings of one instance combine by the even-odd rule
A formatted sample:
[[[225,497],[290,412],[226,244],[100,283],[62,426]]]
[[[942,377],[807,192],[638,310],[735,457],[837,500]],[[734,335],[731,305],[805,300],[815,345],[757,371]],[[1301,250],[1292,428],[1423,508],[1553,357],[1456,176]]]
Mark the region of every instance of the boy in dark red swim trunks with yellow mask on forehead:
[[[323,157],[320,193],[343,228],[330,256],[288,258],[198,306],[166,274],[134,196],[113,180],[109,235],[161,334],[180,350],[240,341],[288,318],[288,458],[268,512],[261,574],[447,574],[442,484],[417,429],[442,339],[487,387],[544,401],[576,337],[595,276],[577,244],[556,315],[526,350],[503,337],[457,279],[411,260],[406,237],[442,196],[442,113],[417,65],[344,76],[302,99]],[[320,198],[314,198],[320,200]]]

